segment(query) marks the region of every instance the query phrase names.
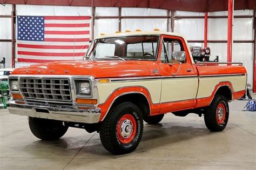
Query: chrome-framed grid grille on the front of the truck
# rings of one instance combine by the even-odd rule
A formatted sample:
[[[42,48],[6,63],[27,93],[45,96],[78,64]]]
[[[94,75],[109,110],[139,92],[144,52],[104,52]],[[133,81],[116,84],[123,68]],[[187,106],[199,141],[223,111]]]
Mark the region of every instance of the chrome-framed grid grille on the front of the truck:
[[[24,78],[19,79],[19,89],[25,99],[71,101],[68,78]]]

